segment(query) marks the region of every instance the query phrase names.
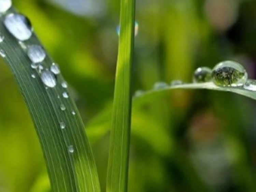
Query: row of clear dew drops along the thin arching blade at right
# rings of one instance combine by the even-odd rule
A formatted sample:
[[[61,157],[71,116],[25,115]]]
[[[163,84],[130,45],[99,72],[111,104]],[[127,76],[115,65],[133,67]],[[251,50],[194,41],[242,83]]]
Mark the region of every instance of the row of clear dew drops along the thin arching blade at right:
[[[219,87],[237,87],[250,91],[256,91],[256,80],[247,79],[248,75],[245,68],[236,61],[223,61],[215,65],[213,69],[199,67],[193,75],[193,83],[212,82]],[[165,82],[156,82],[154,90],[168,89],[168,87],[182,85],[181,80],[173,80],[170,85]],[[134,97],[140,97],[145,92],[138,90]]]

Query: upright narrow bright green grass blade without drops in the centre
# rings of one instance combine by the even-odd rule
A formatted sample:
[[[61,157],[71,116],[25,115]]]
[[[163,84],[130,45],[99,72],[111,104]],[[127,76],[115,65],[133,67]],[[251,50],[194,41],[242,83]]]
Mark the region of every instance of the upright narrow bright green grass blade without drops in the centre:
[[[107,175],[107,191],[111,192],[127,191],[134,9],[135,0],[121,0],[120,38]]]

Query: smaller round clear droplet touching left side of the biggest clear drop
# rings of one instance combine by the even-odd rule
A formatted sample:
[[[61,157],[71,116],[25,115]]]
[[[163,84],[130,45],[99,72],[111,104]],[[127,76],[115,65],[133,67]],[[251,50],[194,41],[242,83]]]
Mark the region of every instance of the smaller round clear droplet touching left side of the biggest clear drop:
[[[208,67],[199,67],[195,70],[193,82],[204,83],[212,80],[212,70]]]

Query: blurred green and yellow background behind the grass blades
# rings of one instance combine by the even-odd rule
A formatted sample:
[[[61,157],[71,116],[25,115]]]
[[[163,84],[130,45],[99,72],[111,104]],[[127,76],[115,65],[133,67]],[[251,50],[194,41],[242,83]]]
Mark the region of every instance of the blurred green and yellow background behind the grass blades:
[[[13,1],[71,87],[105,191],[118,48],[117,0]],[[133,92],[191,82],[236,60],[256,78],[255,0],[138,0]],[[256,101],[174,90],[134,102],[130,192],[256,191]],[[49,192],[43,155],[15,80],[0,60],[0,192]]]

